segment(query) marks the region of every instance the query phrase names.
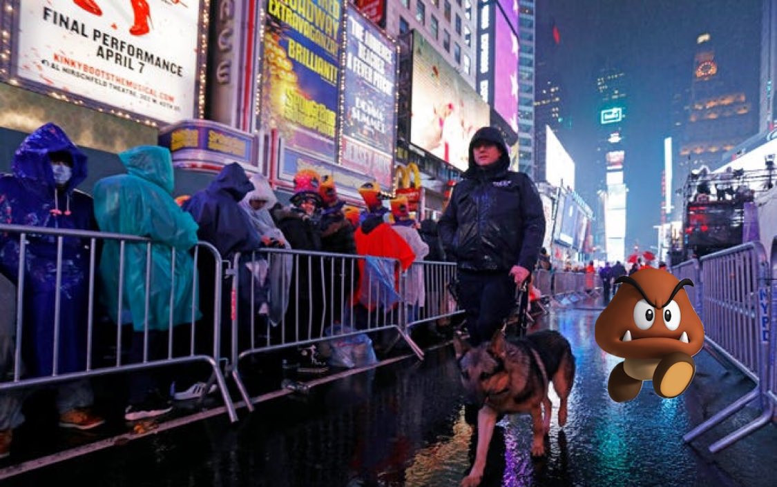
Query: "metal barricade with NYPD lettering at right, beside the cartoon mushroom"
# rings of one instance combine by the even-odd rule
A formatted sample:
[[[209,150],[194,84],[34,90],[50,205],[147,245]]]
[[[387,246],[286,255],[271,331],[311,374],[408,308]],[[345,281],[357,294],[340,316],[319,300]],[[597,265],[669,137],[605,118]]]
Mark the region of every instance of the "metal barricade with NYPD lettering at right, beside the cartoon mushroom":
[[[685,433],[692,441],[756,399],[762,414],[709,446],[716,453],[772,420],[773,395],[768,394],[774,340],[770,340],[768,261],[759,242],[721,250],[701,259],[704,286],[702,323],[706,343],[756,382],[755,388],[716,415]],[[771,345],[770,345],[771,342]],[[770,347],[772,356],[770,357]]]

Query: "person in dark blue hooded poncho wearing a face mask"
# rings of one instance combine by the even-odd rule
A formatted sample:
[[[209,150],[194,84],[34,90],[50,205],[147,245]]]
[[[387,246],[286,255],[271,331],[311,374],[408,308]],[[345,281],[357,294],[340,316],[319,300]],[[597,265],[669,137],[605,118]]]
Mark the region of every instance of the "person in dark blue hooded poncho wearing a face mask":
[[[16,149],[13,174],[0,177],[0,223],[67,230],[95,230],[92,199],[75,188],[86,178],[86,156],[54,123],[39,127]],[[22,358],[26,376],[84,371],[89,313],[89,240],[62,239],[61,282],[57,288],[57,237],[27,233],[24,260]],[[19,283],[19,234],[0,233],[0,272]],[[58,321],[55,302],[59,296]],[[57,362],[54,330],[58,326]],[[93,415],[89,381],[57,387],[60,426],[87,430],[104,423]],[[23,423],[24,394],[0,394],[0,436],[10,444]],[[0,457],[8,451],[0,451]]]

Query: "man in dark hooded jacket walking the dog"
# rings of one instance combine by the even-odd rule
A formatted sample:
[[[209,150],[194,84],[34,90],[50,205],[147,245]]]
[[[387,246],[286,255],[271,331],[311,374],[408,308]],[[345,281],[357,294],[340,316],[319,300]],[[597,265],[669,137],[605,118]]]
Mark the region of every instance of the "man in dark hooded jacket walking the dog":
[[[473,346],[502,326],[545,236],[537,188],[528,175],[509,170],[508,154],[497,129],[479,129],[469,143],[469,169],[437,224],[445,253],[458,264],[458,295]]]

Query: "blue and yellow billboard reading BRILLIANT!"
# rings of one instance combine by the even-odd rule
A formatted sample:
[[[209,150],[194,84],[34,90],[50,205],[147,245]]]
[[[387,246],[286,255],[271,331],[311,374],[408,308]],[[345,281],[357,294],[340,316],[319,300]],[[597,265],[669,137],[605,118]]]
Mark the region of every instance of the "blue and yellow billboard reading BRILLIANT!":
[[[286,150],[335,161],[340,84],[340,0],[268,0],[260,130],[276,130]]]

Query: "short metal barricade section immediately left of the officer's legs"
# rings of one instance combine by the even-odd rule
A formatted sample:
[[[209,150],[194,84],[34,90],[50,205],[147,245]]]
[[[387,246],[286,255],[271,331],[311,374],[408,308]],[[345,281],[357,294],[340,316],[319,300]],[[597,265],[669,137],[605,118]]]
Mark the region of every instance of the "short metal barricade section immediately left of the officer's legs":
[[[456,264],[418,261],[407,270],[405,279],[406,330],[419,323],[448,318],[460,313],[449,286],[455,283]]]

